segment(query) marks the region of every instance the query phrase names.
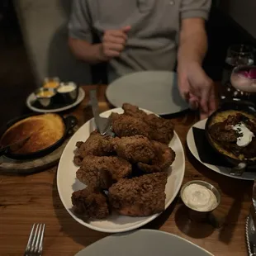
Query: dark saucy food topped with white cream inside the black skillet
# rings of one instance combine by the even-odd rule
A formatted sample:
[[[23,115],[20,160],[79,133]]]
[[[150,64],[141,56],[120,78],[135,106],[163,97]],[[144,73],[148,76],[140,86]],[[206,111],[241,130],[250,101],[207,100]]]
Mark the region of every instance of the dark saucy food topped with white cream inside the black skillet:
[[[227,110],[216,113],[207,126],[211,145],[225,156],[256,160],[256,117],[245,111]]]

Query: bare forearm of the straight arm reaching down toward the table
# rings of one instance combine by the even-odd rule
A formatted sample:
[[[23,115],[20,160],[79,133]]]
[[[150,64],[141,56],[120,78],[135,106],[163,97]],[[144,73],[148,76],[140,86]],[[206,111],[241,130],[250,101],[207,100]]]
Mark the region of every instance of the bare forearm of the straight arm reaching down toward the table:
[[[202,25],[184,27],[180,33],[178,68],[202,63],[207,51],[207,36]]]

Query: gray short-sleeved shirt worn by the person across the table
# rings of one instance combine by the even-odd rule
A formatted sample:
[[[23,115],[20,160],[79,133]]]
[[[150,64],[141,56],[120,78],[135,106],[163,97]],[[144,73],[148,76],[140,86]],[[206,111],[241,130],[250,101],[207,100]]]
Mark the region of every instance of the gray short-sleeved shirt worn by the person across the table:
[[[141,70],[173,70],[181,20],[207,19],[211,0],[73,0],[69,36],[92,42],[92,31],[131,26],[126,48],[111,59],[110,80]]]

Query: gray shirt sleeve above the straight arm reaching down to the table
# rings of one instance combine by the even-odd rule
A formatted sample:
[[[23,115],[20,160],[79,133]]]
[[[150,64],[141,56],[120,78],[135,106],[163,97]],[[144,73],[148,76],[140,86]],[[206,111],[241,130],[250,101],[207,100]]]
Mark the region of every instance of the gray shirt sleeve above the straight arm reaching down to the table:
[[[203,18],[208,19],[211,9],[211,0],[182,0],[181,18]]]

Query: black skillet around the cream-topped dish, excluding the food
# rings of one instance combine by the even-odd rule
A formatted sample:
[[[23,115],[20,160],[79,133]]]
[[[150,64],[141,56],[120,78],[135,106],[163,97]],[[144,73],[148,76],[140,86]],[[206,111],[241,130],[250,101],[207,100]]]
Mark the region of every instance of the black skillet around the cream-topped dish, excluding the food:
[[[234,165],[234,168],[237,168],[240,171],[245,170],[247,166],[256,166],[256,161],[253,160],[244,160],[240,161],[238,159],[233,159],[225,154],[222,154],[218,149],[216,149],[215,145],[211,142],[210,134],[208,133],[208,129],[211,123],[211,120],[218,115],[222,111],[228,110],[237,110],[237,111],[244,111],[250,115],[256,116],[256,108],[254,103],[249,102],[225,102],[217,111],[215,111],[206,121],[206,138],[213,149],[218,154],[221,154],[230,164]]]

